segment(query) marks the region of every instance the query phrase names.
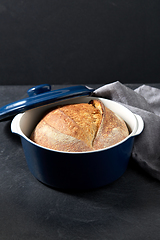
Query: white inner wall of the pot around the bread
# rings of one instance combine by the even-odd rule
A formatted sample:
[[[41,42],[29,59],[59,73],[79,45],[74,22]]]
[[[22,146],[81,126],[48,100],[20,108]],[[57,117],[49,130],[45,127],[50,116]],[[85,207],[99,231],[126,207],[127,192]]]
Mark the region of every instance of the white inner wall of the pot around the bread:
[[[58,105],[89,102],[91,99],[93,99],[93,97],[78,97],[78,98],[69,99],[69,100],[58,102],[58,103],[52,103],[46,106],[28,110],[22,115],[20,119],[20,123],[19,123],[20,129],[22,133],[25,135],[24,137],[29,138],[33,129],[37,125],[37,123],[42,119],[45,112],[48,111],[49,109],[52,109]],[[103,98],[99,98],[99,99],[104,103],[106,107],[108,107],[110,110],[115,112],[118,116],[120,116],[126,122],[130,131],[130,135],[128,137],[134,135],[137,129],[137,121],[134,114],[129,109],[127,109],[126,107],[122,106],[119,103],[116,103],[111,100],[103,99]]]

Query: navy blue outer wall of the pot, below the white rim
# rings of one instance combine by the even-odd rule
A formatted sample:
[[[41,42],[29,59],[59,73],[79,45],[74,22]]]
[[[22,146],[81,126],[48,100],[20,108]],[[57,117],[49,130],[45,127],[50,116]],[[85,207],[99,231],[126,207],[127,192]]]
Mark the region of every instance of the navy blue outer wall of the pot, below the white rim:
[[[91,153],[62,153],[38,147],[21,137],[31,173],[59,189],[93,189],[107,185],[126,171],[134,138],[113,148]]]

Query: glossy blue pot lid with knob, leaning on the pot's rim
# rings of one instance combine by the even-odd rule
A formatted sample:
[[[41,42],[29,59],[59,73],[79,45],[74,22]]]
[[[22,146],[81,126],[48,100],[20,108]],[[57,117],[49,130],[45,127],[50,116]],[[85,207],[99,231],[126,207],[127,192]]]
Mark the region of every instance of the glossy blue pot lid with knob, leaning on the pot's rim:
[[[0,120],[8,120],[18,113],[49,103],[80,96],[90,96],[93,91],[94,89],[81,85],[61,88],[53,91],[51,91],[51,85],[49,84],[38,85],[27,91],[29,97],[1,107]]]

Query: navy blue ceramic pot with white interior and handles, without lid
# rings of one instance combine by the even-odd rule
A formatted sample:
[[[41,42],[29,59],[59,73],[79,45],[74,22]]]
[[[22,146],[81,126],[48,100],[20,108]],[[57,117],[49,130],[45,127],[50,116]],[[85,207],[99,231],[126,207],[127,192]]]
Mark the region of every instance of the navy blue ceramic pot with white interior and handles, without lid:
[[[61,104],[89,102],[93,97],[77,97]],[[16,115],[11,123],[13,133],[19,134],[26,161],[31,173],[42,183],[63,190],[98,188],[118,179],[126,171],[134,138],[144,127],[142,118],[119,103],[99,98],[117,113],[128,125],[130,135],[118,144],[92,152],[60,152],[44,148],[29,136],[49,108],[60,102],[48,104]]]

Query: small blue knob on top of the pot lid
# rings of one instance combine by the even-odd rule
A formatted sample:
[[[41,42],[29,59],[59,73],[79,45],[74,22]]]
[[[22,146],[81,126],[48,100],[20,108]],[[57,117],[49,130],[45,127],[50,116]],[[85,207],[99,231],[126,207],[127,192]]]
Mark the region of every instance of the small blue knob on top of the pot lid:
[[[41,93],[49,92],[51,91],[51,85],[50,84],[41,84],[35,87],[30,88],[27,93],[29,97],[36,96]]]

